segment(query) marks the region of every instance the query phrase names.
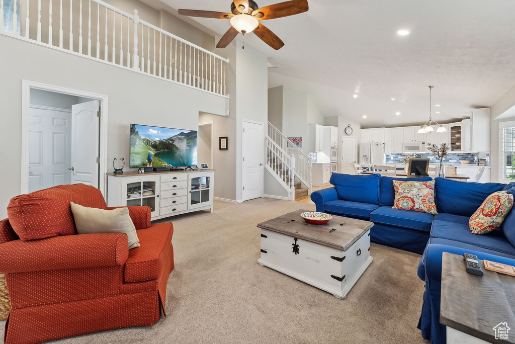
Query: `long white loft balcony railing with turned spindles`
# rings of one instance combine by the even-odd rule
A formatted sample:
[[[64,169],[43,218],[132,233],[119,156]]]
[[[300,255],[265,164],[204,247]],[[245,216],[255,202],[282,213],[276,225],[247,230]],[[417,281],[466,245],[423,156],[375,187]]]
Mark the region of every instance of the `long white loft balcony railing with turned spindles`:
[[[228,98],[228,59],[141,20],[138,10],[100,0],[0,0],[0,34]]]

